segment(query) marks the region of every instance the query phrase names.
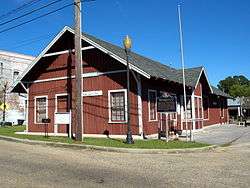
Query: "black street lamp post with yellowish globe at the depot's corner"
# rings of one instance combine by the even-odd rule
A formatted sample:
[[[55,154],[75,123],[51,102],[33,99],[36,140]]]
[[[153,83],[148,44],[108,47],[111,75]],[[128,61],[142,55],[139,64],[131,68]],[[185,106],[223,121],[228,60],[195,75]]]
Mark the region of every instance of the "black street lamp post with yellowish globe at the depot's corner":
[[[124,38],[123,45],[125,48],[126,60],[127,60],[127,138],[126,138],[126,143],[133,144],[134,141],[133,141],[131,125],[130,125],[130,97],[129,97],[129,93],[130,93],[129,55],[130,55],[130,50],[132,47],[132,41],[128,35]]]

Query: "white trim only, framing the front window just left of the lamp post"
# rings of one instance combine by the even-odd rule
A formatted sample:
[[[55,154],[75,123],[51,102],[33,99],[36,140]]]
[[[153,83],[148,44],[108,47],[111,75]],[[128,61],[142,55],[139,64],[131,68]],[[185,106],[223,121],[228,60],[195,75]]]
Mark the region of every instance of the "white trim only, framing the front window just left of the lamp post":
[[[112,121],[111,118],[111,93],[116,93],[116,92],[124,92],[124,99],[125,99],[125,121]],[[119,123],[127,123],[128,121],[128,101],[127,101],[127,89],[115,89],[115,90],[108,90],[108,110],[109,110],[109,121],[108,123],[112,123],[112,124],[119,124]]]

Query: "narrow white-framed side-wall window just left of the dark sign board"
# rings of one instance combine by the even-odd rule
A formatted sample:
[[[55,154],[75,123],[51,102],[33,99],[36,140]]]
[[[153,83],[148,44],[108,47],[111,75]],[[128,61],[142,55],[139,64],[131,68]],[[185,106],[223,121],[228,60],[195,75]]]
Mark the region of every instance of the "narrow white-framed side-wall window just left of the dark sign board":
[[[157,121],[157,91],[148,90],[148,117],[149,121]]]

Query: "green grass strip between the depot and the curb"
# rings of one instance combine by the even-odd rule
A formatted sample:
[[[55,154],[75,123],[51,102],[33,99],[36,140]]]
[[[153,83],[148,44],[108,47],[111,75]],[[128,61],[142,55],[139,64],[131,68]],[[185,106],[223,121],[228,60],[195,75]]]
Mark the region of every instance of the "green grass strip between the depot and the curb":
[[[76,142],[67,137],[53,137],[50,136],[45,138],[44,136],[33,136],[33,135],[18,135],[15,132],[21,132],[25,130],[25,126],[14,126],[14,127],[0,127],[0,135],[10,136],[15,138],[30,139],[30,140],[41,140],[51,142],[62,142],[62,143],[81,143],[87,145],[106,146],[106,147],[120,147],[120,148],[144,148],[144,149],[181,149],[181,148],[198,148],[208,146],[208,144],[198,142],[183,142],[183,141],[170,141],[166,143],[163,140],[135,140],[134,144],[128,145],[124,143],[122,139],[112,138],[84,138],[83,142]]]

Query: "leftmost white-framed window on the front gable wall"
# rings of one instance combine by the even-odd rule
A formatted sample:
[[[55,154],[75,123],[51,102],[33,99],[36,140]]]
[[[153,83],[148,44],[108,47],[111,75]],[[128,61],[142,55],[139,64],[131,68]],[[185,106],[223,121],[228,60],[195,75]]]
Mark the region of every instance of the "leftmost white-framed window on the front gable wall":
[[[35,97],[35,123],[42,123],[42,119],[48,118],[48,96]]]

